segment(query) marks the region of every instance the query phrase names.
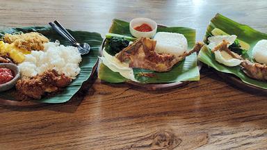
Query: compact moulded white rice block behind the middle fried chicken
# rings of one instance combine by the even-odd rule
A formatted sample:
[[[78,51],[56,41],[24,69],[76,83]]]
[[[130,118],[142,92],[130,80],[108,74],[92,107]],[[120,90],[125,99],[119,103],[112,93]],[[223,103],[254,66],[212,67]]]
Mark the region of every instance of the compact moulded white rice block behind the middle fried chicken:
[[[154,36],[154,40],[156,40],[156,53],[179,57],[187,51],[187,40],[182,34],[159,32]]]

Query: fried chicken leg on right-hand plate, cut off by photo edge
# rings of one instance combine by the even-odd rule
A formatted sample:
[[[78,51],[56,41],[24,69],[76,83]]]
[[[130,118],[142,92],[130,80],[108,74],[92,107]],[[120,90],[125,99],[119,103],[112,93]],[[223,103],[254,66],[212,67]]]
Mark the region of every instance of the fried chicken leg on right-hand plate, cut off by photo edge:
[[[267,81],[267,65],[262,65],[260,63],[252,63],[250,60],[243,59],[241,56],[238,56],[237,53],[232,52],[230,49],[227,48],[228,42],[223,40],[217,47],[212,49],[211,51],[226,51],[231,55],[233,58],[243,60],[240,64],[242,67],[243,72],[249,76],[250,78],[255,78],[260,81]]]

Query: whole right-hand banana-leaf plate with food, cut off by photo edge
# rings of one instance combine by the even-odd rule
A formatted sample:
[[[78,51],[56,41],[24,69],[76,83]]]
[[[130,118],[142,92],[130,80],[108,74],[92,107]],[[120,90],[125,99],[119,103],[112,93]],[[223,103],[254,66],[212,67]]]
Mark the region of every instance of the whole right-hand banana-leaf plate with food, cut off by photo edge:
[[[198,60],[238,88],[267,90],[267,34],[217,14],[207,27]]]

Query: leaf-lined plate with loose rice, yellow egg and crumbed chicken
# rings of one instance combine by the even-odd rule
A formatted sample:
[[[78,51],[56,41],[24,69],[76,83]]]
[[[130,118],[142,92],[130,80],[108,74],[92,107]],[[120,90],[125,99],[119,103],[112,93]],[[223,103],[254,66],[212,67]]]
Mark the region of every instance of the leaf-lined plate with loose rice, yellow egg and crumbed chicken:
[[[65,103],[71,99],[78,99],[81,97],[81,92],[83,90],[88,90],[88,88],[90,88],[97,78],[99,48],[103,39],[99,33],[68,31],[79,42],[87,42],[90,44],[90,53],[83,56],[75,54],[78,60],[74,60],[74,53],[70,52],[70,50],[74,49],[74,52],[79,53],[78,50],[75,50],[75,47],[70,47],[71,44],[49,26],[9,28],[0,31],[0,38],[2,38],[4,42],[8,40],[5,40],[4,38],[6,37],[3,36],[9,35],[9,37],[19,37],[23,35],[25,39],[25,37],[27,38],[34,34],[36,36],[42,36],[42,38],[47,38],[47,43],[49,45],[44,44],[44,49],[47,49],[45,47],[50,47],[45,51],[28,51],[26,54],[24,53],[25,55],[21,53],[21,50],[17,50],[17,48],[7,51],[6,48],[4,49],[1,47],[1,54],[6,53],[6,56],[13,58],[12,60],[17,60],[17,62],[13,61],[13,63],[19,67],[22,78],[17,81],[17,84],[12,89],[0,92],[0,104],[6,106],[39,106],[45,103]],[[27,33],[30,33],[30,35]],[[32,39],[34,38],[35,37]],[[30,38],[30,40],[32,39]],[[3,43],[3,41],[1,42]],[[3,43],[3,45],[4,47],[9,47],[9,45],[14,46],[15,44]],[[58,49],[58,51],[62,50],[60,55],[56,53],[55,49]],[[23,57],[19,57],[17,53],[20,53],[20,56]],[[67,59],[58,59],[58,56]],[[47,61],[49,62],[47,63]],[[76,62],[77,66],[74,65],[74,62]],[[44,64],[54,67],[53,70],[47,70],[42,74],[35,72],[36,70],[42,72],[42,69],[47,67],[44,66]],[[68,66],[66,64],[68,64]],[[32,67],[33,65],[38,67]],[[54,69],[57,70],[54,71]],[[72,74],[69,74],[70,72],[75,74],[73,78],[71,78]],[[28,76],[29,78],[27,78]],[[70,79],[67,81],[67,84],[62,82],[66,78]],[[53,83],[54,81],[56,83]],[[26,99],[22,99],[22,96],[25,96]]]

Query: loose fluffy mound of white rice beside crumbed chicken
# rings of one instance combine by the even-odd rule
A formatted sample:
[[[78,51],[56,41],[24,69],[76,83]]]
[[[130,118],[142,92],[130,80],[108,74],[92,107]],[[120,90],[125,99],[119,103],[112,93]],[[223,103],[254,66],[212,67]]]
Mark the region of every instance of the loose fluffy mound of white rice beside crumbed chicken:
[[[31,51],[19,64],[22,78],[42,74],[48,69],[55,69],[59,74],[65,74],[74,79],[80,73],[81,54],[76,47],[65,47],[59,42],[47,42],[44,51]]]

